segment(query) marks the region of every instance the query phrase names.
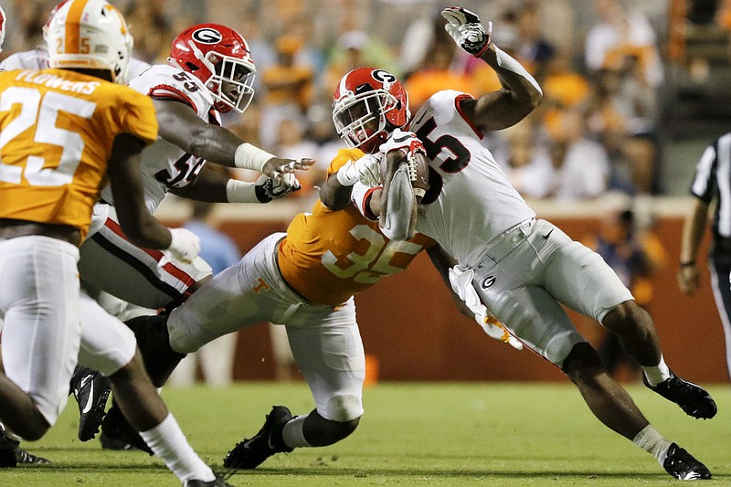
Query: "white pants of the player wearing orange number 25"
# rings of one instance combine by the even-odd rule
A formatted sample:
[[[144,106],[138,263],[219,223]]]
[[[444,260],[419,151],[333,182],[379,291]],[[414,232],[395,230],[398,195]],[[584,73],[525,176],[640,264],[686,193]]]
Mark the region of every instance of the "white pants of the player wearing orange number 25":
[[[78,259],[79,249],[57,238],[0,240],[5,376],[50,425],[66,406],[77,362],[110,375],[136,350],[134,334],[81,293]]]

